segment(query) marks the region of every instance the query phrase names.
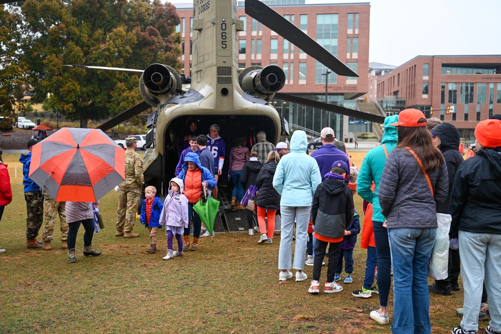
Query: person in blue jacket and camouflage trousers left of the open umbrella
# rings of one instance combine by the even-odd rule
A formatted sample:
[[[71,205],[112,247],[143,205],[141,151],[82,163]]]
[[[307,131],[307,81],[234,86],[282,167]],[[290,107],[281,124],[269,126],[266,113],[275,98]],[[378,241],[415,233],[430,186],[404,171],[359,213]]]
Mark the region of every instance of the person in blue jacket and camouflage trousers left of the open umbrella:
[[[36,139],[28,141],[28,154],[21,154],[19,162],[23,164],[23,185],[25,191],[26,209],[28,218],[26,219],[26,239],[28,248],[41,248],[42,242],[37,241],[38,232],[44,219],[42,192],[38,184],[28,177],[31,165],[32,146],[37,144]]]

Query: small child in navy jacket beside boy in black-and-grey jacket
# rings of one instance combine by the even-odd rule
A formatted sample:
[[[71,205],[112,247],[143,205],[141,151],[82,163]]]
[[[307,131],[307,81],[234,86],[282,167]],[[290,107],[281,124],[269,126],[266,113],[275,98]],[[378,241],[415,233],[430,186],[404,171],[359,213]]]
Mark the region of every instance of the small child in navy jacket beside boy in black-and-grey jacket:
[[[336,276],[334,276],[334,281],[341,280],[341,273],[343,272],[343,257],[345,258],[345,272],[346,277],[344,283],[352,283],[352,272],[353,272],[353,249],[357,243],[357,235],[360,233],[360,218],[357,210],[353,214],[353,219],[350,225],[345,230],[345,237],[341,243],[341,249],[339,250],[338,258],[338,268],[336,268]]]

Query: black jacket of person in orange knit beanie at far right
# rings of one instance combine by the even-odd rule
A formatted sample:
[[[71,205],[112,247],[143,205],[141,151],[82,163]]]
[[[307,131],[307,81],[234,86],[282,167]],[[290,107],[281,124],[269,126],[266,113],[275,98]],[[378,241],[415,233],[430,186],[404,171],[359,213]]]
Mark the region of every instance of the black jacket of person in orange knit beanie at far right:
[[[457,231],[501,234],[501,147],[479,150],[456,172],[450,192],[450,238]]]

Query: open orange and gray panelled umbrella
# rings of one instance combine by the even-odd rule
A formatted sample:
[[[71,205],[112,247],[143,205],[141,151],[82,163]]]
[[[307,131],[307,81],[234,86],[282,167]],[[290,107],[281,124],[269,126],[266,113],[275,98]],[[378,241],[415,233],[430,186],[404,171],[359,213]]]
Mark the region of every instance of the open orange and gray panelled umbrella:
[[[96,202],[125,179],[125,151],[101,130],[63,128],[33,146],[29,177],[56,201]]]

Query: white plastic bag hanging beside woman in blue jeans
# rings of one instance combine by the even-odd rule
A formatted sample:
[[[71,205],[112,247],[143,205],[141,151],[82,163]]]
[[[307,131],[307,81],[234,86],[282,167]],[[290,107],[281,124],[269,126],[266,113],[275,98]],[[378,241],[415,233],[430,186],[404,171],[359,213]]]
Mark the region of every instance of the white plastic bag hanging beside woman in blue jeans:
[[[428,262],[428,277],[441,280],[447,278],[449,262],[449,229],[452,217],[450,214],[437,213],[437,237]]]

